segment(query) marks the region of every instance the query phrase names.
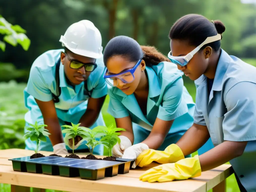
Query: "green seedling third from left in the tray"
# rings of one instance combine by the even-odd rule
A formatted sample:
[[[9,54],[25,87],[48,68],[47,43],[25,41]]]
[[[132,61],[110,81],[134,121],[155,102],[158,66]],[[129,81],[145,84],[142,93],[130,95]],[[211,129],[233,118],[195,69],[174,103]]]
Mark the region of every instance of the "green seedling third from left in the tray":
[[[87,141],[86,146],[89,148],[90,153],[92,154],[94,147],[96,147],[99,144],[106,144],[103,141],[97,141],[96,138],[100,138],[105,135],[104,132],[100,131],[100,127],[102,126],[97,126],[94,127],[93,129],[89,129],[87,127],[84,127],[83,129],[85,130],[84,133],[84,140]]]

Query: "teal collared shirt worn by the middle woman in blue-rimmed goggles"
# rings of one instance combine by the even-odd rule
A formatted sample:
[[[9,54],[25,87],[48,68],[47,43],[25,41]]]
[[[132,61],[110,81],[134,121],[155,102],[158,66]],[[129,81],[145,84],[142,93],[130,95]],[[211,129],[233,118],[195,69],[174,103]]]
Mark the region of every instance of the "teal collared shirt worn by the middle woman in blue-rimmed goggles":
[[[149,93],[147,115],[143,115],[134,94],[126,95],[117,87],[108,90],[108,112],[114,118],[130,116],[132,122],[151,131],[156,118],[174,120],[169,133],[186,131],[193,124],[194,105],[192,97],[183,86],[183,72],[170,62],[161,62],[145,68]]]

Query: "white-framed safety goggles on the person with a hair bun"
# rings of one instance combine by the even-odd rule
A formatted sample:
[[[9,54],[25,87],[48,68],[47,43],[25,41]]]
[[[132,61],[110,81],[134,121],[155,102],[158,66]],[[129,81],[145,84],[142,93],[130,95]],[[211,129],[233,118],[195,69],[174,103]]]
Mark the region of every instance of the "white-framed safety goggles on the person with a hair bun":
[[[172,63],[174,63],[176,65],[185,66],[188,64],[190,59],[197,53],[197,51],[199,51],[202,48],[202,46],[204,46],[208,43],[214,42],[214,41],[218,41],[221,38],[222,38],[221,34],[207,37],[204,42],[202,42],[199,46],[197,46],[193,51],[188,53],[186,56],[175,57],[175,56],[172,56],[172,51],[170,51],[168,53],[168,58],[171,60]]]

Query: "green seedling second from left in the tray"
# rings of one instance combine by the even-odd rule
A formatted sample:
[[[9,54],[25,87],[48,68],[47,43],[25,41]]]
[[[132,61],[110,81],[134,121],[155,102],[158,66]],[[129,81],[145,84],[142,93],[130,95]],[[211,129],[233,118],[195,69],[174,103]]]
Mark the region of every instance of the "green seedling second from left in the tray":
[[[71,122],[71,125],[62,125],[62,127],[66,127],[66,129],[62,130],[62,133],[66,133],[65,137],[64,137],[64,142],[66,143],[66,145],[69,145],[69,139],[72,139],[73,141],[73,153],[74,153],[74,145],[75,145],[75,137],[76,136],[80,136],[83,137],[83,135],[85,135],[87,132],[84,130],[84,128],[86,127],[82,127],[79,126],[81,123],[78,124],[73,124]],[[77,144],[76,147],[78,147],[79,145],[81,145],[81,143],[85,141],[85,139],[80,140]]]

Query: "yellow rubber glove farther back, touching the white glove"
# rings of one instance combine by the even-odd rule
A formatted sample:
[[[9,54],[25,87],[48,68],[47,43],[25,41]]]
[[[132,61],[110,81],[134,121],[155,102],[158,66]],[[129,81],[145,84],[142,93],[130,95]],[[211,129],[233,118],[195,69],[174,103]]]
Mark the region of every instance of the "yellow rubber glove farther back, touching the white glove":
[[[139,167],[149,165],[153,161],[165,164],[165,163],[175,163],[180,159],[184,159],[184,155],[176,144],[171,144],[165,148],[164,151],[157,151],[153,149],[147,149],[143,151],[136,159],[135,164]]]

